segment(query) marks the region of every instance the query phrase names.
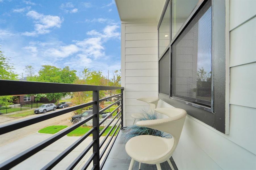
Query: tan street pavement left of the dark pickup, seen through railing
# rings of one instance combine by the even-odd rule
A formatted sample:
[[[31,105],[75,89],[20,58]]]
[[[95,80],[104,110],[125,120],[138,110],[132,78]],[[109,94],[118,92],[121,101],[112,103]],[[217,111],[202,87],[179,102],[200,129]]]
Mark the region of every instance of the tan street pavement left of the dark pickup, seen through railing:
[[[60,109],[58,109],[58,110],[60,110]],[[51,112],[54,112],[54,111],[50,111],[47,113],[51,113]],[[26,116],[23,118],[10,118],[10,117],[1,116],[0,117],[0,125],[18,121],[18,120],[24,120],[27,118],[36,117],[39,115],[41,115],[41,114],[33,114],[33,115]],[[27,127],[21,128],[21,129],[17,129],[15,131],[11,131],[9,133],[5,133],[5,134],[1,135],[1,137],[0,137],[0,146],[4,146],[8,143],[11,143],[18,139],[21,139],[27,135],[37,132],[39,129],[45,128],[47,126],[51,126],[51,125],[71,126],[72,124],[68,120],[71,116],[72,116],[72,112],[69,112],[69,113],[57,116],[55,118],[51,118],[51,119],[30,125],[30,126],[27,126]]]

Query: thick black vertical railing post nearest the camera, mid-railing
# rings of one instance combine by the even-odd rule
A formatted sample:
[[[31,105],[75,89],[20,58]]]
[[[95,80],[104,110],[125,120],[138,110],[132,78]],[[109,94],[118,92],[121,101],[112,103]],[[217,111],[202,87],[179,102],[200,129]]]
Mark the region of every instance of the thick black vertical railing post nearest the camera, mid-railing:
[[[93,145],[93,152],[96,153],[96,156],[93,158],[93,165],[96,165],[96,169],[99,170],[99,90],[92,92],[92,100],[96,101],[96,104],[92,107],[92,112],[97,115],[92,119],[92,126],[97,128],[92,133],[92,138],[96,141]]]

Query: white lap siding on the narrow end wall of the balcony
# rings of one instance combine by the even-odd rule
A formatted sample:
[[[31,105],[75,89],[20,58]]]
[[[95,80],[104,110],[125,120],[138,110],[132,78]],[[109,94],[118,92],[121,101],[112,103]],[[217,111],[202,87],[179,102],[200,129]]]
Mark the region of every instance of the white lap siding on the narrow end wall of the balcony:
[[[158,95],[157,23],[122,24],[122,86],[125,94],[125,126],[131,114],[147,109],[140,97]]]

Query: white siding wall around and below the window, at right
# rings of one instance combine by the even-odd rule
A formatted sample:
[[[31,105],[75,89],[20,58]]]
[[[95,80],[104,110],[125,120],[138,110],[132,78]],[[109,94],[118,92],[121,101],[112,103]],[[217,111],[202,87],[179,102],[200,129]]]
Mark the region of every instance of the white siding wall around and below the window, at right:
[[[256,169],[255,8],[254,0],[230,0],[230,133],[187,116],[173,154],[179,170]]]

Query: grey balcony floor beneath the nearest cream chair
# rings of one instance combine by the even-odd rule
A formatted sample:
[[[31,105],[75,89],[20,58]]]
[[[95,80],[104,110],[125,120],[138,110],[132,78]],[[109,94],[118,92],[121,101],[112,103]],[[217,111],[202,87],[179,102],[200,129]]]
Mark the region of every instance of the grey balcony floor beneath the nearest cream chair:
[[[124,130],[120,130],[115,144],[113,145],[113,148],[111,149],[109,156],[105,162],[105,165],[103,166],[103,170],[128,170],[131,157],[126,153],[125,151],[125,143],[122,140],[122,133],[124,133]],[[153,146],[152,146],[153,147]],[[172,165],[174,169],[177,169],[176,165],[173,162],[173,159],[170,158],[170,161],[172,162]],[[160,164],[162,170],[171,170],[170,165],[168,162],[163,162]],[[139,169],[139,162],[134,163],[134,170]],[[156,165],[149,165],[145,163],[141,163],[141,170],[157,170]]]

